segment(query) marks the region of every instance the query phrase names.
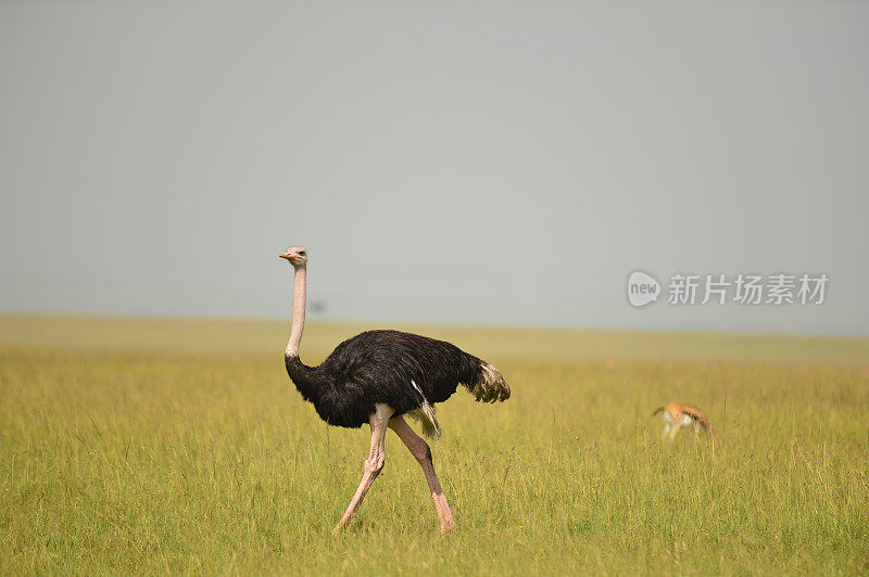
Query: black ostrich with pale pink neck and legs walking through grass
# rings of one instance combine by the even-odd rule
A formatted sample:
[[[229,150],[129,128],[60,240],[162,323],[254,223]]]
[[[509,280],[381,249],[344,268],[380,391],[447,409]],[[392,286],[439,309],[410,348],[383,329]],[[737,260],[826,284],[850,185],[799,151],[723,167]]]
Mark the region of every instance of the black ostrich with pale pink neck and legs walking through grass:
[[[299,345],[305,323],[307,251],[291,246],[280,257],[290,261],[295,275],[292,329],[285,352],[290,379],[326,423],[350,428],[368,423],[371,427],[362,482],[332,534],[350,523],[383,469],[387,428],[395,432],[421,465],[441,534],[454,529],[455,518],[434,474],[431,449],[404,415],[419,421],[426,436],[437,438],[440,425],[434,403],[449,399],[459,383],[483,402],[506,400],[509,385],[496,368],[455,345],[399,331],[364,332],[338,345],[320,366],[306,367],[299,359]]]

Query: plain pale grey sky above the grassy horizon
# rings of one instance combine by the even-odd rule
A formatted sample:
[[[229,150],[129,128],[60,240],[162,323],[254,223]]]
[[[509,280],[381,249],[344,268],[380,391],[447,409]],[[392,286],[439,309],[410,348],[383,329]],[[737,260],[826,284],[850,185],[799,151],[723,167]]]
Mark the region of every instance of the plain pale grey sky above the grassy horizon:
[[[0,310],[869,334],[869,4],[0,2]],[[830,277],[635,310],[628,273]]]

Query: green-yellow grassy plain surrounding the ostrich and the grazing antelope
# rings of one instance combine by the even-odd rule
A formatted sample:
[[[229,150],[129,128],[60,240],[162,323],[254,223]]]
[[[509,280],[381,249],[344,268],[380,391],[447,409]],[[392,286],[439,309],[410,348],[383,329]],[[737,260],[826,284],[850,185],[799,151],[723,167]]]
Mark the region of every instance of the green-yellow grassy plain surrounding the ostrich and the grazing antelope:
[[[869,573],[869,339],[404,329],[514,392],[439,408],[446,538],[391,433],[330,536],[368,432],[302,401],[284,323],[0,317],[0,573]],[[662,443],[673,400],[722,441]]]

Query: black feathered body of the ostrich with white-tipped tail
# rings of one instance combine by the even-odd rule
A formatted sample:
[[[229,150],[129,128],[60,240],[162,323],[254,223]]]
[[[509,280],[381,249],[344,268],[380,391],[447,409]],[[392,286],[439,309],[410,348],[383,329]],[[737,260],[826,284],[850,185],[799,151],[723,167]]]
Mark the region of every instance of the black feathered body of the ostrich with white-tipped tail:
[[[358,334],[338,345],[318,367],[306,367],[298,356],[287,356],[286,366],[317,414],[343,427],[368,423],[376,403],[389,405],[400,415],[419,409],[425,400],[443,402],[459,384],[478,400],[509,397],[509,387],[492,366],[451,343],[400,331]]]

